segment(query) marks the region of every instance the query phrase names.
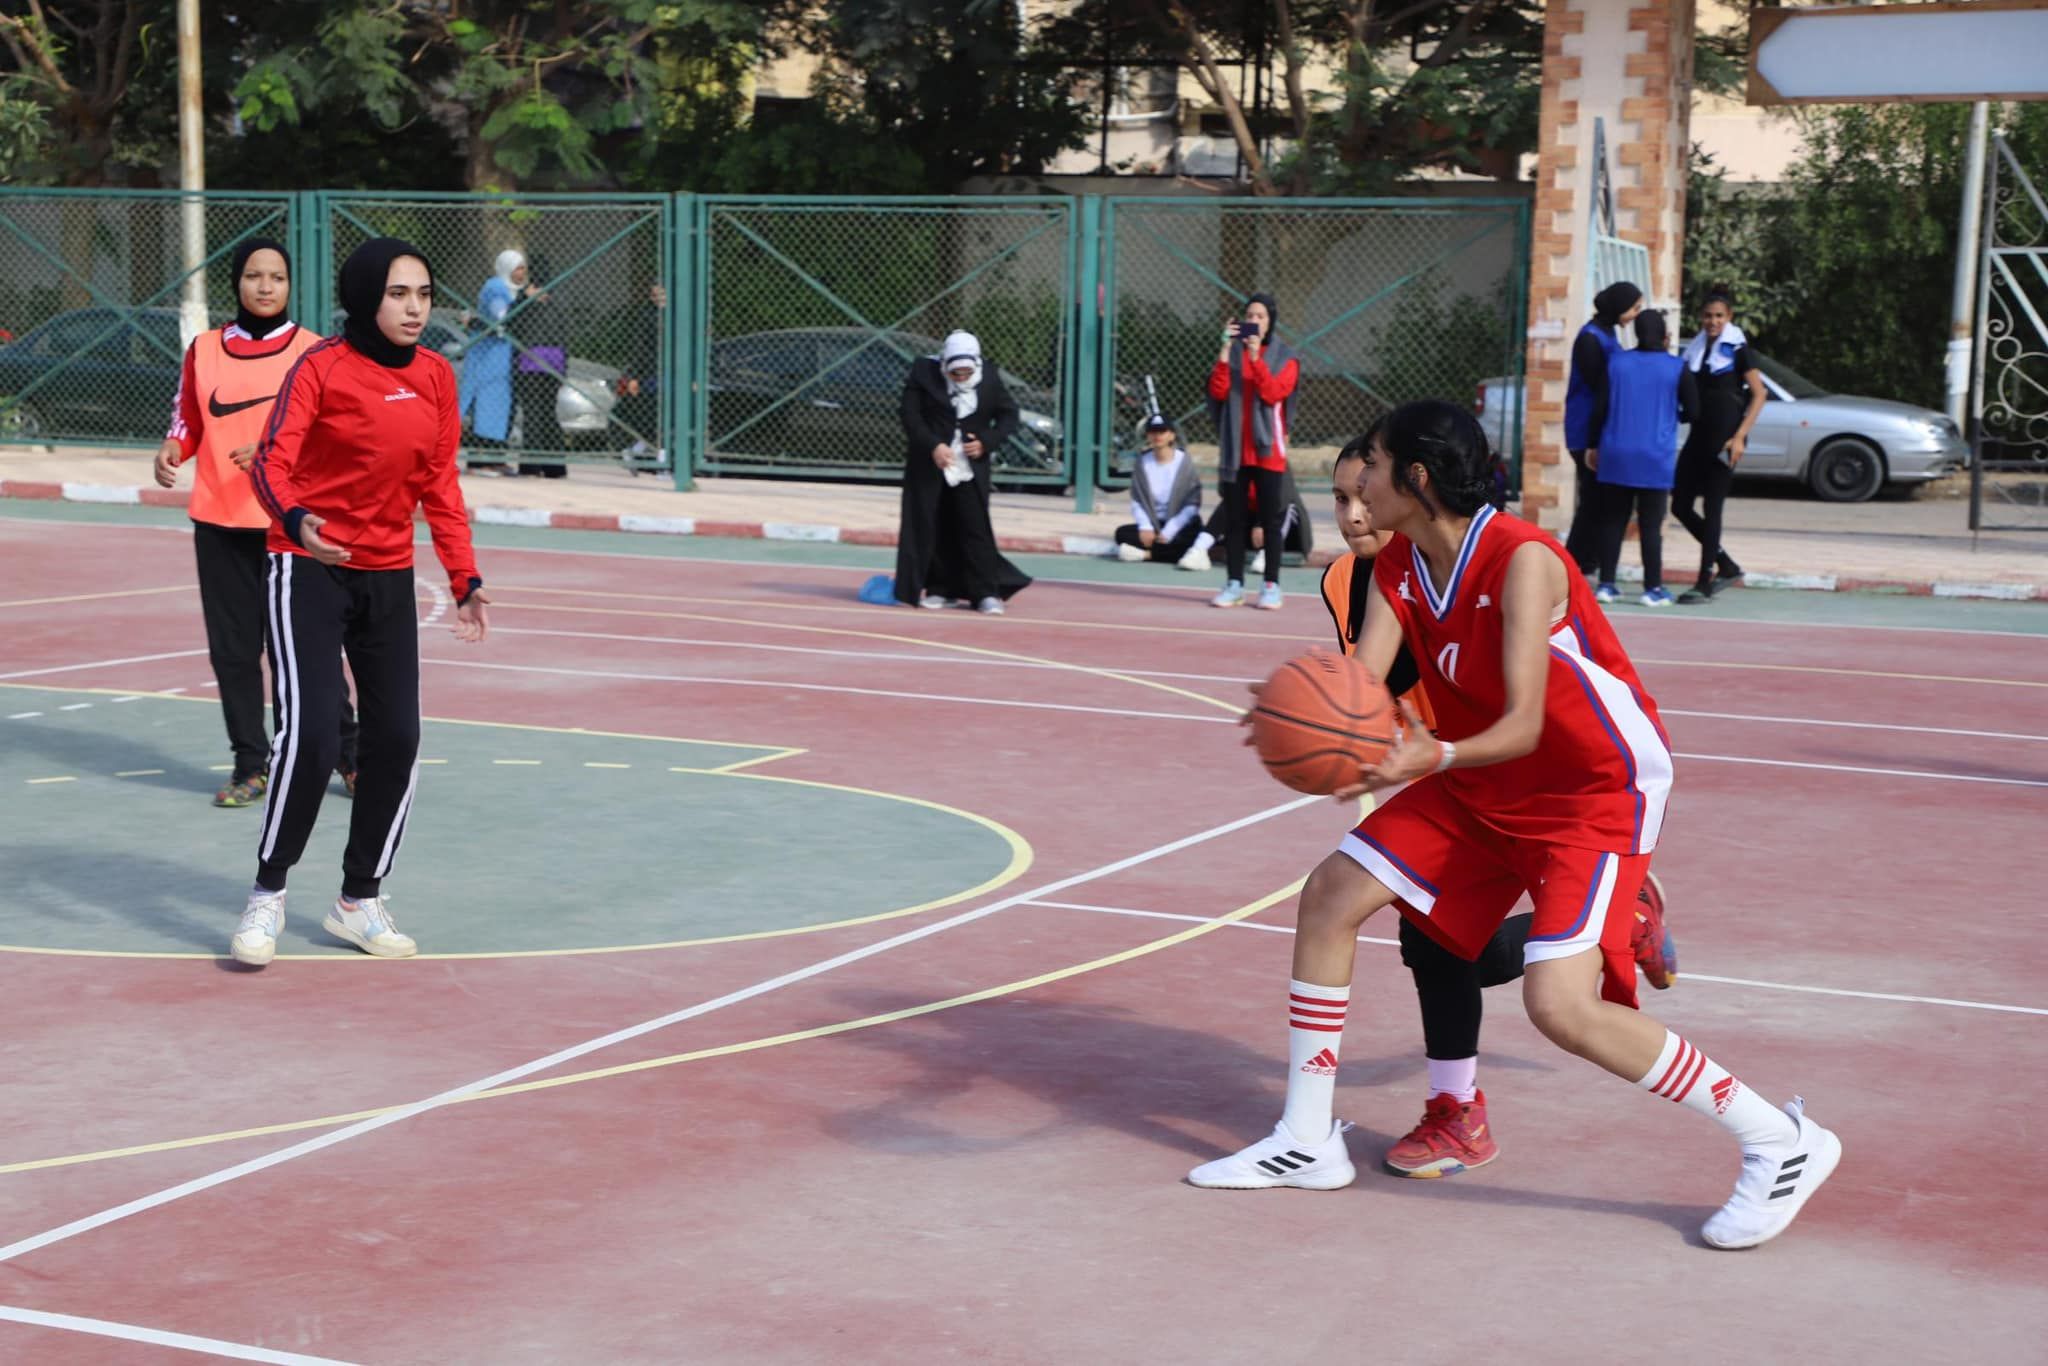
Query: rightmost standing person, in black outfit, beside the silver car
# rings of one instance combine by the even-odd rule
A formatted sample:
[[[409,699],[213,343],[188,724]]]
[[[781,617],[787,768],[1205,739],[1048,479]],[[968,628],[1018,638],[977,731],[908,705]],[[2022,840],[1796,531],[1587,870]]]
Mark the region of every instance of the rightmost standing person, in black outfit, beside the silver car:
[[[1763,375],[1749,354],[1749,338],[1735,326],[1735,299],[1724,289],[1708,291],[1700,332],[1681,360],[1700,387],[1700,408],[1677,453],[1671,512],[1700,543],[1700,582],[1677,598],[1694,606],[1743,578],[1743,567],[1720,545],[1720,508],[1729,502],[1735,467],[1743,463],[1749,428],[1757,424],[1765,397]],[[1704,500],[1704,514],[1694,510],[1696,500]]]

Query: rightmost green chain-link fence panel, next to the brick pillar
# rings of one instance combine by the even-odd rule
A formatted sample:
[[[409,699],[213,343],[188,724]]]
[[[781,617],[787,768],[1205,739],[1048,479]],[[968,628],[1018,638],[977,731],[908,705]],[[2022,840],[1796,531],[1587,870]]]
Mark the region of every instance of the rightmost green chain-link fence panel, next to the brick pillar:
[[[1300,358],[1292,449],[1315,459],[1419,397],[1520,383],[1528,207],[1460,201],[1112,199],[1104,221],[1102,483],[1128,477],[1151,377],[1182,444],[1214,461],[1206,383],[1225,319],[1278,301]],[[1509,424],[1503,455],[1520,455]],[[1329,451],[1323,451],[1329,455]]]

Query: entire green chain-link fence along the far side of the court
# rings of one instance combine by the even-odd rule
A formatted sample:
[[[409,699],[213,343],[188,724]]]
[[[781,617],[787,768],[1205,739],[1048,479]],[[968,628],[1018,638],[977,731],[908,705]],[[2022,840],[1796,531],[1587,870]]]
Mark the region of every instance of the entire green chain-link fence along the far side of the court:
[[[1513,395],[1522,377],[1528,207],[1511,199],[0,190],[0,440],[154,444],[186,260],[203,258],[217,326],[250,233],[295,248],[293,313],[319,332],[340,326],[348,252],[418,242],[465,459],[508,471],[893,479],[909,362],[967,328],[1024,410],[999,477],[1087,506],[1128,477],[1147,377],[1212,459],[1204,383],[1253,291],[1278,297],[1303,360],[1305,463],[1403,399],[1464,401],[1495,377]],[[526,258],[516,287],[492,285],[506,250]],[[1520,422],[1499,434],[1516,459]]]

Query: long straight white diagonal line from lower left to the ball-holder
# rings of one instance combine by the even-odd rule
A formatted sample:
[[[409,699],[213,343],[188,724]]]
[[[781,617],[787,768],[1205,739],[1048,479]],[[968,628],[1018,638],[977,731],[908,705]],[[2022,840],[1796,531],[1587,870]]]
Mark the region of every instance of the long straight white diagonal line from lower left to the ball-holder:
[[[1270,821],[1272,817],[1286,815],[1288,811],[1298,811],[1300,807],[1307,807],[1307,805],[1313,805],[1313,803],[1319,803],[1319,801],[1325,801],[1325,799],[1323,797],[1296,797],[1294,801],[1284,801],[1278,807],[1266,807],[1264,811],[1253,811],[1251,815],[1237,817],[1235,821],[1227,821],[1223,825],[1210,825],[1208,829],[1196,831],[1192,836],[1182,836],[1180,840],[1171,840],[1167,844],[1153,846],[1153,848],[1145,850],[1143,854],[1130,854],[1126,858],[1118,858],[1116,862],[1102,864],[1100,868],[1092,868],[1087,872],[1075,872],[1073,877],[1063,877],[1063,879],[1059,879],[1055,883],[1047,883],[1044,887],[1032,887],[1030,891],[1014,893],[1010,897],[1004,897],[1001,901],[991,901],[989,905],[977,907],[973,911],[963,911],[958,915],[948,915],[946,920],[936,920],[936,922],[932,922],[928,926],[920,926],[918,930],[905,930],[903,934],[893,934],[893,936],[889,936],[885,940],[877,940],[872,944],[866,944],[862,948],[854,948],[854,950],[838,954],[834,958],[821,958],[819,963],[811,963],[809,967],[801,967],[801,969],[795,969],[791,973],[782,973],[780,977],[770,977],[766,981],[758,981],[752,987],[741,987],[737,991],[729,991],[729,993],[725,993],[721,997],[715,997],[711,1001],[700,1001],[696,1006],[686,1006],[684,1010],[676,1010],[676,1012],[670,1012],[670,1014],[653,1018],[653,1020],[643,1020],[641,1024],[633,1024],[633,1026],[627,1026],[623,1030],[612,1030],[610,1034],[600,1034],[598,1038],[588,1038],[588,1040],[584,1040],[580,1044],[571,1044],[571,1047],[561,1049],[557,1053],[549,1053],[547,1057],[537,1057],[530,1063],[520,1063],[518,1067],[508,1067],[506,1071],[500,1071],[496,1075],[481,1077],[477,1081],[469,1081],[469,1083],[459,1085],[455,1090],[440,1092],[438,1096],[428,1096],[426,1100],[416,1100],[410,1106],[399,1106],[397,1110],[389,1110],[389,1112],[379,1114],[375,1118],[367,1118],[367,1120],[360,1120],[356,1124],[348,1124],[346,1128],[336,1128],[332,1133],[319,1135],[317,1139],[307,1139],[303,1143],[293,1143],[291,1147],[276,1149],[274,1153],[264,1153],[262,1157],[252,1157],[250,1161],[242,1161],[242,1163],[236,1163],[231,1167],[221,1167],[219,1171],[211,1171],[211,1173],[195,1178],[190,1182],[182,1182],[178,1186],[168,1186],[164,1190],[158,1190],[154,1194],[141,1196],[137,1200],[129,1200],[127,1204],[115,1204],[111,1208],[100,1210],[98,1214],[86,1214],[84,1219],[74,1219],[68,1225],[59,1225],[55,1229],[49,1229],[47,1233],[37,1233],[35,1237],[25,1237],[20,1241],[8,1243],[6,1247],[0,1247],[0,1262],[12,1262],[14,1257],[27,1255],[27,1253],[37,1251],[41,1247],[49,1247],[51,1243],[61,1243],[66,1239],[78,1237],[80,1233],[90,1233],[92,1229],[100,1229],[100,1227],[111,1225],[111,1223],[121,1221],[121,1219],[129,1219],[131,1214],[141,1214],[145,1210],[154,1210],[158,1206],[170,1204],[172,1200],[182,1200],[184,1196],[197,1196],[203,1190],[213,1190],[215,1186],[225,1186],[227,1182],[240,1180],[244,1176],[254,1176],[258,1171],[266,1171],[266,1169],[276,1167],[281,1163],[287,1163],[287,1161],[291,1161],[295,1157],[307,1157],[309,1153],[317,1153],[322,1149],[330,1149],[336,1143],[346,1143],[348,1139],[356,1139],[360,1135],[375,1133],[375,1130],[385,1128],[389,1124],[397,1124],[399,1120],[410,1120],[416,1114],[426,1114],[428,1110],[436,1110],[436,1108],[446,1106],[451,1102],[463,1100],[465,1096],[475,1096],[477,1092],[487,1092],[487,1090],[494,1090],[494,1087],[500,1087],[500,1085],[508,1085],[512,1081],[518,1081],[520,1077],[530,1077],[537,1071],[547,1071],[551,1067],[559,1067],[563,1063],[569,1063],[573,1059],[586,1057],[590,1053],[598,1053],[600,1049],[610,1049],[610,1047],[627,1042],[631,1038],[639,1038],[641,1034],[653,1034],[655,1030],[664,1030],[664,1028],[668,1028],[672,1024],[682,1024],[684,1020],[696,1020],[698,1016],[709,1016],[715,1010],[725,1010],[727,1006],[737,1006],[741,1001],[750,1001],[750,999],[754,999],[758,995],[766,995],[766,993],[776,991],[780,987],[788,987],[793,983],[807,981],[811,977],[819,977],[821,973],[829,973],[829,971],[846,967],[850,963],[860,963],[862,958],[872,958],[874,954],[889,952],[891,948],[901,948],[903,944],[913,944],[918,940],[930,938],[930,936],[940,934],[944,930],[954,930],[958,926],[973,924],[977,920],[985,920],[985,917],[989,917],[989,915],[993,915],[997,911],[1010,909],[1012,905],[1024,905],[1026,901],[1032,901],[1036,897],[1049,897],[1049,895],[1061,893],[1061,891],[1065,891],[1069,887],[1079,887],[1081,883],[1094,883],[1098,879],[1122,872],[1124,868],[1137,868],[1139,864],[1153,862],[1155,858],[1165,858],[1167,854],[1178,854],[1180,850],[1194,848],[1196,844],[1206,844],[1210,840],[1221,840],[1223,836],[1237,834],[1239,829],[1245,829],[1249,825],[1257,825],[1262,821]]]

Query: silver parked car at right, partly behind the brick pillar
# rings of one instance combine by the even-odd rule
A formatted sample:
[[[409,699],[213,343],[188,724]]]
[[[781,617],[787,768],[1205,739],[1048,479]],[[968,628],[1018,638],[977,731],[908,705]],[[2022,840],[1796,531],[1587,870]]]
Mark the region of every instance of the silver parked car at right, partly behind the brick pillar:
[[[1827,502],[1866,502],[1888,483],[1927,483],[1968,467],[1970,446],[1946,414],[1829,393],[1788,365],[1749,354],[1763,373],[1765,401],[1743,453],[1745,479],[1798,479]],[[1481,381],[1475,412],[1495,446],[1520,401],[1520,381]]]

